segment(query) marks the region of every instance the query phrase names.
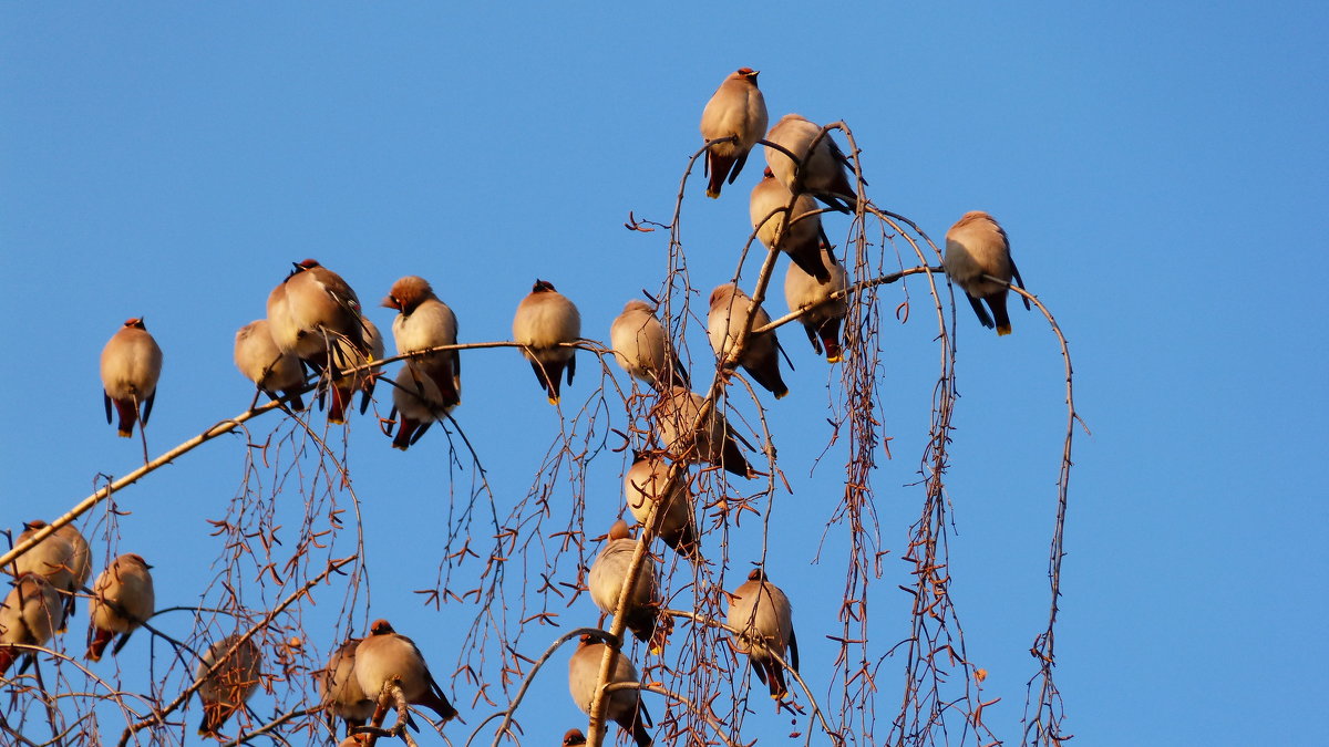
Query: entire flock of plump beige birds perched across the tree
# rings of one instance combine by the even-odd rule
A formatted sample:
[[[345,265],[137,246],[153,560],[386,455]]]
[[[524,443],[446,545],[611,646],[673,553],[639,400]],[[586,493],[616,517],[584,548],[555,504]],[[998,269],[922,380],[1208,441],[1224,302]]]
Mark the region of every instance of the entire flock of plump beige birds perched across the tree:
[[[825,129],[797,114],[784,116],[767,132],[766,101],[756,78],[758,72],[750,68],[734,72],[702,113],[702,137],[708,144],[706,193],[718,198],[726,183],[734,183],[751,150],[759,142],[766,146],[768,167],[750,202],[752,225],[767,249],[789,257],[785,276],[789,308],[803,311],[800,322],[813,350],[836,363],[843,356],[840,323],[847,314],[848,274],[831,251],[816,201],[843,213],[857,205],[848,160]],[[1007,287],[1011,278],[1019,284],[1022,280],[1006,234],[991,215],[971,211],[952,226],[946,233],[944,266],[965,291],[979,322],[995,326],[998,335],[1009,334]],[[413,355],[395,377],[393,415],[388,420],[389,429],[396,427],[395,435],[388,433],[392,445],[404,451],[461,403],[461,356],[456,348],[435,350],[457,344],[457,318],[429,283],[415,275],[393,283],[383,306],[399,312],[392,323],[399,355]],[[723,284],[711,292],[707,334],[722,360],[744,330],[768,322],[766,311],[736,284]],[[577,307],[552,283],[536,280],[517,307],[512,331],[549,401],[558,404],[563,376],[570,385],[577,371],[574,343],[581,339]],[[662,449],[634,455],[623,486],[627,506],[639,524],[651,521],[655,534],[679,556],[702,562],[694,498],[671,464],[708,463],[743,477],[758,473],[723,413],[712,409],[708,417],[700,417],[704,400],[691,391],[687,370],[651,304],[627,302],[611,324],[610,342],[618,364],[658,392],[651,417],[663,441]],[[286,408],[304,409],[302,393],[310,388],[308,372],[316,374],[316,396],[320,404],[330,400],[330,423],[344,423],[356,391],[363,392],[364,412],[375,383],[383,376],[375,364],[383,356],[383,339],[364,316],[355,291],[314,259],[296,263],[268,295],[267,316],[235,335],[237,367],[259,392],[280,400]],[[788,393],[780,376],[773,330],[751,335],[736,364],[776,399]],[[129,319],[106,343],[101,355],[106,420],[112,421],[113,411],[118,415],[121,436],[130,436],[136,424],[148,424],[161,368],[162,351],[142,319]],[[41,521],[29,522],[19,542],[44,526]],[[627,524],[618,521],[590,568],[590,597],[605,614],[618,607],[635,548]],[[658,625],[657,564],[650,556],[647,561],[626,602],[625,622],[658,653],[667,622]],[[88,659],[100,661],[116,635],[120,642],[113,653],[118,653],[129,635],[152,617],[155,599],[150,568],[142,557],[128,553],[97,577],[89,602]],[[9,570],[16,581],[0,605],[0,681],[16,659],[27,654],[31,661],[33,654],[32,649],[9,645],[44,646],[65,629],[74,613],[76,594],[90,577],[92,557],[78,530],[65,525],[20,556]],[[735,650],[750,657],[752,670],[772,698],[784,698],[784,671],[776,657],[788,655],[788,665],[797,670],[788,597],[758,568],[727,598],[728,625],[742,633],[734,638]],[[585,635],[569,663],[573,700],[587,714],[603,654],[605,643]],[[259,683],[260,663],[259,647],[241,635],[225,637],[209,647],[198,663],[203,703],[199,734],[217,735],[243,706]],[[367,739],[355,727],[369,719],[380,722],[384,714],[376,712],[377,695],[391,678],[397,678],[408,703],[432,710],[443,722],[457,716],[419,647],[388,621],[379,619],[364,638],[346,641],[318,674],[322,706],[330,718],[347,723],[344,747]],[[626,654],[617,657],[610,681],[638,681]],[[630,732],[639,747],[651,744],[646,728],[650,718],[639,691],[614,691],[607,698],[606,716]],[[569,731],[562,740],[566,747],[583,743],[579,730]]]

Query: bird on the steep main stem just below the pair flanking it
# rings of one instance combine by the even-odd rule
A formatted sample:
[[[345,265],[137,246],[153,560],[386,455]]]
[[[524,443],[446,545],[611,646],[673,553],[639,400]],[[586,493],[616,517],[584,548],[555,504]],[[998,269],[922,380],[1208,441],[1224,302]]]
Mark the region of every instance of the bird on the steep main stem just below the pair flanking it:
[[[734,440],[738,433],[730,431],[723,412],[712,408],[700,427],[692,429],[702,413],[703,401],[706,400],[700,395],[683,387],[672,387],[659,393],[659,399],[651,407],[651,416],[664,441],[664,451],[674,461],[706,461],[739,477],[755,476],[756,472]]]

